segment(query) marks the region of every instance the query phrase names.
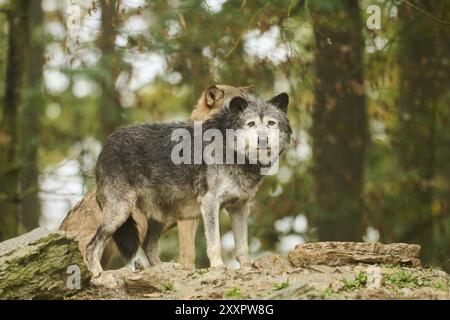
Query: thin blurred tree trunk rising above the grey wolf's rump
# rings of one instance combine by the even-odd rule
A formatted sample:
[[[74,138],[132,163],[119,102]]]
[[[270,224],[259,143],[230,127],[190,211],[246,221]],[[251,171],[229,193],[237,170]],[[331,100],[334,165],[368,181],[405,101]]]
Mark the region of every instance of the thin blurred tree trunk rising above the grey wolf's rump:
[[[100,61],[101,72],[99,74],[102,95],[100,100],[100,140],[106,138],[123,124],[122,105],[120,95],[115,85],[120,73],[121,58],[115,49],[119,18],[117,16],[118,1],[101,1],[102,20],[101,34],[98,40],[102,58]]]

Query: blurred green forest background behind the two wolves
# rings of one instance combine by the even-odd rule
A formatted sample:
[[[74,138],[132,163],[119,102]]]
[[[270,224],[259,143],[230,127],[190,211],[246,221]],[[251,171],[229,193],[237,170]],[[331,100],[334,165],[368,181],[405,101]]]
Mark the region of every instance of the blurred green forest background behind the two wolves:
[[[225,83],[291,98],[294,141],[255,199],[253,256],[408,242],[449,270],[449,80],[448,0],[0,0],[0,241],[57,229],[114,128],[186,119]],[[207,265],[201,228],[197,248]]]

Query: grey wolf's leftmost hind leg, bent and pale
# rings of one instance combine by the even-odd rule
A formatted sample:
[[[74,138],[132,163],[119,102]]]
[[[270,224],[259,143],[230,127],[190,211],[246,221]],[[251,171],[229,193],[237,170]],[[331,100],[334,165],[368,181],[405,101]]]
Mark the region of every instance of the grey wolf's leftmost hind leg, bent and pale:
[[[103,271],[100,261],[106,241],[128,219],[132,205],[134,204],[122,200],[108,201],[103,206],[102,223],[87,246],[87,260],[94,277]]]

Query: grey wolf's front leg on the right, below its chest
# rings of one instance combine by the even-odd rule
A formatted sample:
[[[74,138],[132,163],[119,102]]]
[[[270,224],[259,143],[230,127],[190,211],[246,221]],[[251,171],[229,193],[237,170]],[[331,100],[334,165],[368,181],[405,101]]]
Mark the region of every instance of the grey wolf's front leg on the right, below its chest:
[[[248,234],[247,234],[247,217],[249,214],[249,206],[246,204],[239,209],[229,210],[231,229],[233,231],[234,243],[236,246],[236,259],[239,261],[241,268],[250,264],[250,256],[248,253]]]

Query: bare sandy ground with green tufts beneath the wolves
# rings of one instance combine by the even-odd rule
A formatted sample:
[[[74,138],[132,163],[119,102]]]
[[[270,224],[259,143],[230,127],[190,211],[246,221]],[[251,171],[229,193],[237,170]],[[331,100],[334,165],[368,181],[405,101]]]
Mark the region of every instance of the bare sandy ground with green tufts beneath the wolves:
[[[450,299],[450,276],[437,268],[308,265],[268,254],[244,269],[177,263],[107,271],[71,299]]]

